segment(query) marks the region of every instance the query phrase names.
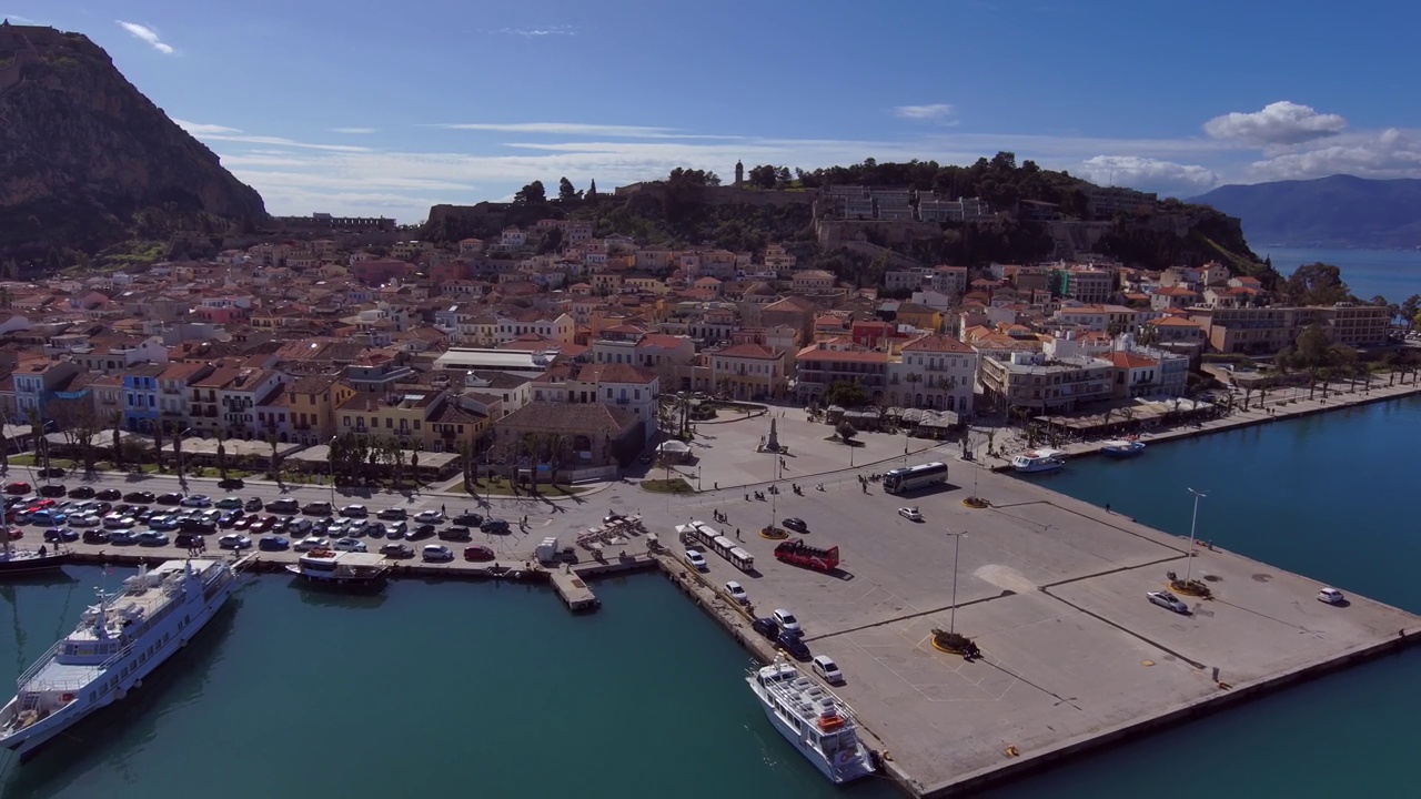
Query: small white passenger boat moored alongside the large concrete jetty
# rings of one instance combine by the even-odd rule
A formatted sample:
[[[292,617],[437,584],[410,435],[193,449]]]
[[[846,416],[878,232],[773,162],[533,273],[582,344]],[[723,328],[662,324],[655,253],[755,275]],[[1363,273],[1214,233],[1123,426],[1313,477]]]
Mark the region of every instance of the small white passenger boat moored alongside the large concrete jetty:
[[[774,729],[831,782],[840,785],[874,773],[853,711],[794,664],[776,660],[747,671],[745,681]]]

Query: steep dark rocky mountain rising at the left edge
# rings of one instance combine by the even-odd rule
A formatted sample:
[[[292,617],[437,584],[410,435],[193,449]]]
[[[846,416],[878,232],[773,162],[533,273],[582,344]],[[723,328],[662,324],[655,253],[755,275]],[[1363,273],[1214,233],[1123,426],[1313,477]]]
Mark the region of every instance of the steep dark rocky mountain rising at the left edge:
[[[0,259],[64,266],[175,230],[266,219],[254,189],[78,33],[0,26]]]

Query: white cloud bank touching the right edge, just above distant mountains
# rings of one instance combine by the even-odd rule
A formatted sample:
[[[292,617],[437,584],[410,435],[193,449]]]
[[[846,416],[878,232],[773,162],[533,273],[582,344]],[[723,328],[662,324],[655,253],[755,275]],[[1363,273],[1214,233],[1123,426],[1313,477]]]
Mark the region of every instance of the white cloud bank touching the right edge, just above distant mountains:
[[[1299,146],[1255,161],[1259,181],[1297,181],[1329,175],[1358,178],[1421,178],[1421,131],[1388,128],[1347,134],[1327,146]]]

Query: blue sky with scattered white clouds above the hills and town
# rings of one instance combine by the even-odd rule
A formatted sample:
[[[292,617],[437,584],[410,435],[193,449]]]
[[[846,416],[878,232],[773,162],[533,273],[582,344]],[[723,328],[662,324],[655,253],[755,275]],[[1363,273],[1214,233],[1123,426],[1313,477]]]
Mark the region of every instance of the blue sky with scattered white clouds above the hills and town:
[[[1366,6],[1366,9],[1363,7]],[[273,213],[531,179],[999,149],[1192,196],[1421,176],[1421,6],[1313,0],[0,0],[77,30]]]

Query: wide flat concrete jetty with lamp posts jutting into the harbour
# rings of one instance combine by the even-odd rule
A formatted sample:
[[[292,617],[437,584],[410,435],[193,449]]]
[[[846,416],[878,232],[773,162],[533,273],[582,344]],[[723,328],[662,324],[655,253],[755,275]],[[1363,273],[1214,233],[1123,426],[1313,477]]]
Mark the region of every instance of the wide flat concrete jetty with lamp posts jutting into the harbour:
[[[1349,604],[1334,607],[1317,601],[1316,580],[1232,552],[1196,546],[1189,566],[1188,539],[986,468],[952,468],[956,485],[912,498],[864,493],[857,481],[797,505],[782,498],[810,543],[840,547],[830,574],[776,562],[776,542],[759,536],[740,545],[757,576],[713,553],[709,573],[691,572],[678,545],[664,562],[762,660],[767,641],[718,586],[742,583],[762,616],[791,610],[811,651],[843,668],[836,692],[888,752],[885,769],[917,796],[980,790],[1418,641],[1421,617],[1347,586],[1337,587]],[[971,469],[992,508],[961,503]],[[925,520],[897,515],[904,505]],[[1187,570],[1212,599],[1182,597],[1188,614],[1148,601],[1168,590],[1168,572]],[[982,657],[938,651],[932,633],[949,628]]]

